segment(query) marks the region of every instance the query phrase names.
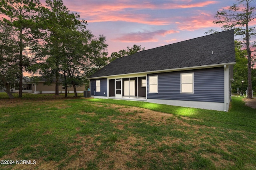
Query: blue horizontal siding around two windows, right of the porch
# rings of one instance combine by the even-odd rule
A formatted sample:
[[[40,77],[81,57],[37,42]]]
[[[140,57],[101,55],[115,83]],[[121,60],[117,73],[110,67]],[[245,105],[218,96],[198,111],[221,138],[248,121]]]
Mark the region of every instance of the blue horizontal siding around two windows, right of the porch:
[[[180,73],[194,72],[194,94],[180,94]],[[206,68],[158,75],[158,93],[148,93],[148,99],[224,102],[224,68]]]

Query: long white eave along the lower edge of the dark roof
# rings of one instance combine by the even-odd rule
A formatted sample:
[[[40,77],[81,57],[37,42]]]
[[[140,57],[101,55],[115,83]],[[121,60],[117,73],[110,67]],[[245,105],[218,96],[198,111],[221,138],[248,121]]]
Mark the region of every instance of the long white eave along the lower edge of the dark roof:
[[[210,65],[203,65],[203,66],[191,66],[191,67],[183,67],[183,68],[172,68],[172,69],[165,69],[165,70],[154,70],[154,71],[146,71],[146,72],[133,72],[128,74],[114,74],[109,76],[99,76],[99,77],[92,77],[87,78],[90,79],[97,79],[97,78],[109,78],[109,77],[116,77],[116,76],[127,76],[127,75],[133,75],[133,74],[153,74],[153,73],[160,73],[160,72],[172,72],[172,71],[182,71],[182,70],[195,70],[195,69],[202,69],[202,68],[214,68],[214,67],[220,67],[224,65],[233,65],[236,64],[236,62],[232,63],[221,63],[221,64],[210,64]]]

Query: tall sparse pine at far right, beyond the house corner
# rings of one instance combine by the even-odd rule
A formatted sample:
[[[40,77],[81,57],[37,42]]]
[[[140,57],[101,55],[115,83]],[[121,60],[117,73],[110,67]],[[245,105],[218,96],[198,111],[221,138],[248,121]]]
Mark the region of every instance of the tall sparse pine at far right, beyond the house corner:
[[[256,46],[252,42],[252,37],[256,35],[256,29],[253,22],[256,18],[256,0],[237,0],[233,6],[227,10],[222,9],[215,15],[217,20],[215,24],[222,25],[223,30],[234,29],[234,33],[240,44],[246,49],[247,66],[248,66],[248,98],[252,98],[252,61],[255,55],[252,51]]]

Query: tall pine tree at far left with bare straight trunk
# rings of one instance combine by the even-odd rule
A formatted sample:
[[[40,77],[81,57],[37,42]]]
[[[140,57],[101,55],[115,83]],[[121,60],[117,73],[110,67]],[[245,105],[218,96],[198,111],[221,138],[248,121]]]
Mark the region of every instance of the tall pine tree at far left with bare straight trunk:
[[[22,97],[22,80],[24,69],[30,64],[25,51],[35,43],[34,31],[36,24],[34,16],[40,6],[39,0],[1,0],[0,14],[4,17],[1,23],[12,28],[12,37],[16,39],[18,55],[16,60],[19,66],[19,97]]]

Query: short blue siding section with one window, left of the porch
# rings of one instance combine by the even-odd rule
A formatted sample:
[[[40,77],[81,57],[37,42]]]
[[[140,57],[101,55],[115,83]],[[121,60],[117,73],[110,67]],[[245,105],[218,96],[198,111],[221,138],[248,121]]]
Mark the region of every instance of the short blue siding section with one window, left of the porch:
[[[100,92],[96,92],[96,80],[100,80]],[[101,79],[94,79],[91,80],[91,95],[94,96],[94,90],[95,90],[95,96],[108,96],[108,79],[107,78],[101,78]],[[105,94],[104,94],[105,92]]]

